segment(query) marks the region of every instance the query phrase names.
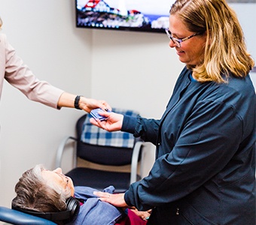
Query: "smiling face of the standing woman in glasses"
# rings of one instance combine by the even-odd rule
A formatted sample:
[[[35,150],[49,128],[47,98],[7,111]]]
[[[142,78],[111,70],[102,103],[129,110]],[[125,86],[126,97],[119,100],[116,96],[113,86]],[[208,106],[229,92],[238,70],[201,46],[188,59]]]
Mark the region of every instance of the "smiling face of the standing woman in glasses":
[[[184,23],[181,22],[177,15],[170,15],[169,31],[171,32],[172,37],[177,39],[183,39],[184,37],[189,37],[190,35],[194,34],[194,32],[191,32],[187,29],[187,27],[184,25]],[[205,33],[195,35],[194,37],[182,41],[180,47],[176,46],[172,40],[169,41],[169,46],[171,48],[175,47],[179,60],[186,65],[193,66],[202,64],[205,45]]]

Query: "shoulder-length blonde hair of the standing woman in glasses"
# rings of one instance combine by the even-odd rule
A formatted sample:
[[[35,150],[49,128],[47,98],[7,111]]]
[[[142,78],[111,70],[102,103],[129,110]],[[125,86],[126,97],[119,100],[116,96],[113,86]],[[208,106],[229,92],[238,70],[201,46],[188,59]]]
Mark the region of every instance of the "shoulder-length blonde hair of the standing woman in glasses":
[[[253,68],[239,20],[226,1],[177,0],[170,14],[177,15],[189,31],[206,32],[202,64],[187,65],[199,82],[224,83],[230,73],[246,77]]]

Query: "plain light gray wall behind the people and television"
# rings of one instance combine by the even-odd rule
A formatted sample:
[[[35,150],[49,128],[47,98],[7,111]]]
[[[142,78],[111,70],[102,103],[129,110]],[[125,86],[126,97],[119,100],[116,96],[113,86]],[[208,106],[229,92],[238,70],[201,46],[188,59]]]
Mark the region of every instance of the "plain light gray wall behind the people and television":
[[[75,28],[73,0],[1,0],[0,6],[2,32],[39,79],[74,94],[105,99],[112,107],[160,118],[183,68],[165,34]],[[236,5],[236,10],[250,40],[248,48],[256,55],[254,6]],[[5,83],[0,104],[0,205],[10,206],[14,185],[26,169],[36,163],[53,169],[59,141],[75,132],[73,120],[80,115],[78,110],[58,111],[27,101]]]

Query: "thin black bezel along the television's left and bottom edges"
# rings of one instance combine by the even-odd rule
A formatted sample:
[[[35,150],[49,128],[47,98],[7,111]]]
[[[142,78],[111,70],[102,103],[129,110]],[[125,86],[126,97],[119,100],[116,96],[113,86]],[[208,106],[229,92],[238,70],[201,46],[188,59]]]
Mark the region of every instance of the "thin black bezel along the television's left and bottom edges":
[[[114,27],[99,27],[99,26],[79,26],[77,2],[78,0],[75,0],[75,26],[77,28],[111,30],[111,31],[139,31],[139,32],[148,32],[148,33],[165,33],[166,32],[165,28],[134,28],[134,27],[127,27],[127,26],[119,26],[118,28],[114,28]]]

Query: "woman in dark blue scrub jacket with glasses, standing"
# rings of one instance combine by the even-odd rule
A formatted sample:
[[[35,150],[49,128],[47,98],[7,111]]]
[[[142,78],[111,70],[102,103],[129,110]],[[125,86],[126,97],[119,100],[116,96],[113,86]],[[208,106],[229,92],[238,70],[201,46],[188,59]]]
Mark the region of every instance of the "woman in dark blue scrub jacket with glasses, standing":
[[[160,120],[91,120],[157,146],[149,175],[105,202],[153,208],[148,224],[255,224],[254,61],[224,0],[177,0],[169,46],[186,65]]]

